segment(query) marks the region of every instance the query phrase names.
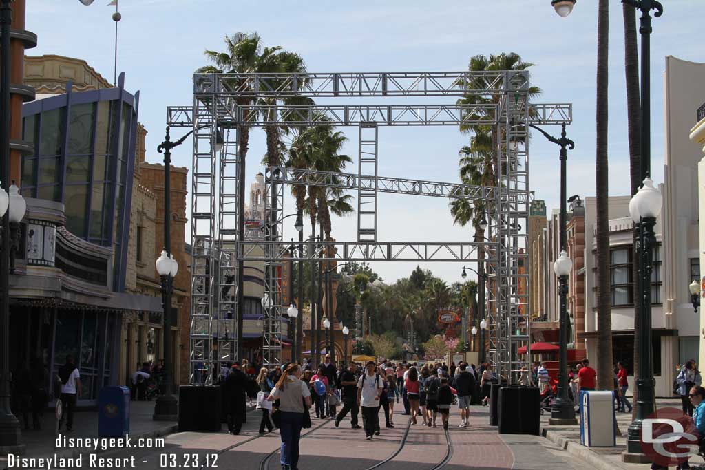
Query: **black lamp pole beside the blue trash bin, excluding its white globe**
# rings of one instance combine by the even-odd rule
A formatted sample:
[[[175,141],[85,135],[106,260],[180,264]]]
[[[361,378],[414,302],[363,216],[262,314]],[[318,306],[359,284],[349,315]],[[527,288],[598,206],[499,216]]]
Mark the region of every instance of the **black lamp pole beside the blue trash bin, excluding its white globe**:
[[[180,140],[178,143],[183,142]],[[178,145],[178,144],[177,144]],[[171,148],[176,147],[169,140],[169,128],[166,127],[164,142],[157,147],[164,149],[164,250],[171,256]],[[161,153],[161,151],[159,151]],[[171,293],[173,292],[173,278],[170,275],[161,276],[161,290],[164,298],[164,319],[162,335],[164,336],[164,395],[159,395],[154,403],[155,421],[176,421],[178,406],[176,397],[172,395],[171,368],[173,357],[171,354]]]

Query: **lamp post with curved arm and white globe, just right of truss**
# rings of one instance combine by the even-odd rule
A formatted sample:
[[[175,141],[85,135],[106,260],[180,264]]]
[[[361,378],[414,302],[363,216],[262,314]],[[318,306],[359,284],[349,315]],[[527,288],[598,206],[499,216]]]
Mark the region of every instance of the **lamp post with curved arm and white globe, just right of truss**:
[[[553,263],[553,271],[556,273],[556,276],[558,276],[558,296],[560,307],[558,312],[558,346],[560,347],[560,350],[558,352],[558,397],[553,401],[553,405],[551,406],[551,422],[556,424],[568,424],[575,423],[576,420],[575,409],[573,408],[572,401],[568,398],[568,374],[566,373],[568,370],[568,276],[570,276],[570,271],[572,269],[572,261],[570,261],[568,254],[565,252],[565,204],[567,199],[565,192],[565,164],[568,160],[568,149],[574,149],[575,142],[568,139],[568,137],[565,137],[565,123],[561,125],[560,139],[556,139],[556,137],[549,135],[536,125],[529,125],[541,132],[541,134],[543,134],[549,142],[553,142],[560,147],[560,256]]]

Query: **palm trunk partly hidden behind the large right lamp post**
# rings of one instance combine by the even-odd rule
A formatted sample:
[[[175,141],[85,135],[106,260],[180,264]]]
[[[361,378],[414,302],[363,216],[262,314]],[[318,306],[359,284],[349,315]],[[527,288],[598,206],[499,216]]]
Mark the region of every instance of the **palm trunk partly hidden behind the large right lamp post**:
[[[641,159],[641,135],[639,127],[641,123],[641,99],[639,98],[639,52],[637,51],[637,9],[628,4],[622,4],[624,19],[624,65],[625,78],[627,80],[627,130],[629,133],[629,172],[632,180],[632,196],[637,193],[641,174],[639,173],[639,160]],[[632,235],[632,246],[637,246],[637,234]],[[632,279],[634,282],[633,296],[639,298],[639,286],[636,280],[639,276],[639,265],[632,263]],[[639,373],[639,343],[642,338],[639,335],[639,303],[634,302],[634,368],[635,383]],[[637,402],[637,388],[632,390],[634,402]],[[632,416],[636,419],[636,407],[632,410]]]

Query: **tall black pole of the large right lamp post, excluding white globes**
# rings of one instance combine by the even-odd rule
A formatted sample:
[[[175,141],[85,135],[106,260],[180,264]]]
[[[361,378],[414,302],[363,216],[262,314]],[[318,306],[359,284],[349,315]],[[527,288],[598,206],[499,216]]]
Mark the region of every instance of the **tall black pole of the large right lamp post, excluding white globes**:
[[[663,14],[663,6],[655,0],[623,0],[642,11],[639,18],[639,33],[642,35],[642,63],[641,63],[641,160],[639,165],[641,180],[651,173],[651,10],[655,10],[657,18]],[[635,420],[627,430],[627,454],[643,454],[640,435],[643,420],[654,413],[656,409],[656,396],[654,388],[654,365],[652,364],[651,345],[651,250],[656,244],[654,237],[655,218],[642,218],[637,224],[637,246],[635,253],[639,263],[639,376],[636,380],[637,402]]]

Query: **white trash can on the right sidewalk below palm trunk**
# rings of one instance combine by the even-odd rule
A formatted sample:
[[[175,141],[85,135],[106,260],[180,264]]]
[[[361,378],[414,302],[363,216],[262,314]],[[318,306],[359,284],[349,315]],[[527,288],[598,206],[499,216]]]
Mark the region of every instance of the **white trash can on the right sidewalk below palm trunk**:
[[[580,392],[580,443],[587,447],[615,447],[613,392]]]

